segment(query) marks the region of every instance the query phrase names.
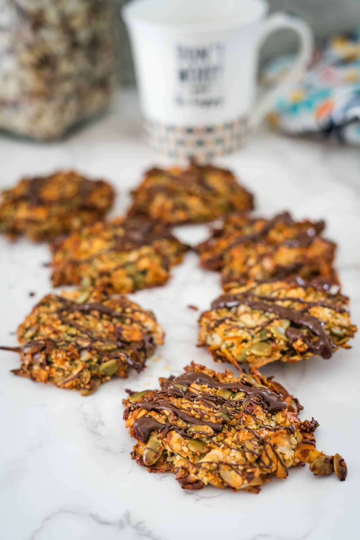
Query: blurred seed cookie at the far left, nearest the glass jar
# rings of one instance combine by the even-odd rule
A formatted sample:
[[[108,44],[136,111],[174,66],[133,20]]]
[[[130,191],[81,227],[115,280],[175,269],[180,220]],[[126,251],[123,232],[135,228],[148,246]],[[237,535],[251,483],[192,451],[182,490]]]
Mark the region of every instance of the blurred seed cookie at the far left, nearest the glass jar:
[[[113,200],[110,184],[74,171],[23,178],[2,192],[0,232],[11,239],[25,234],[35,242],[53,240],[103,218]]]

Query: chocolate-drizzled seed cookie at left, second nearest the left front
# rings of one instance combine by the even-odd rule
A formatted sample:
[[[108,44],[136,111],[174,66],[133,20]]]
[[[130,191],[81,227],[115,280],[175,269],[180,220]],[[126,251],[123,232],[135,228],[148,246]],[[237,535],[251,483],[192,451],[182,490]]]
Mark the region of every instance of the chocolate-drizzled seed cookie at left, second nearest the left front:
[[[87,396],[114,375],[127,377],[130,367],[140,372],[164,332],[152,311],[89,288],[45,296],[17,338],[21,367],[13,373]]]

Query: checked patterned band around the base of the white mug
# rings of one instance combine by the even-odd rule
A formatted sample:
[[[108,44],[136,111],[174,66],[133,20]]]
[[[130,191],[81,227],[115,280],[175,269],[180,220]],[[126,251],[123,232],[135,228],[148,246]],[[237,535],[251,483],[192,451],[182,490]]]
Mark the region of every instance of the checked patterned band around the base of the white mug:
[[[180,127],[144,119],[145,137],[157,152],[171,158],[200,161],[233,152],[248,138],[247,118],[209,126]]]

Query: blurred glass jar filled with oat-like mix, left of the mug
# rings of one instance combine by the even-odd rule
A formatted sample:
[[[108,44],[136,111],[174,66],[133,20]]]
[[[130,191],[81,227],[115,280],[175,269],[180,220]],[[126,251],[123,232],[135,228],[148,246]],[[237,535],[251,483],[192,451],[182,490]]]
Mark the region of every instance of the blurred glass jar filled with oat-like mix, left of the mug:
[[[105,109],[107,0],[0,0],[0,129],[50,140]]]

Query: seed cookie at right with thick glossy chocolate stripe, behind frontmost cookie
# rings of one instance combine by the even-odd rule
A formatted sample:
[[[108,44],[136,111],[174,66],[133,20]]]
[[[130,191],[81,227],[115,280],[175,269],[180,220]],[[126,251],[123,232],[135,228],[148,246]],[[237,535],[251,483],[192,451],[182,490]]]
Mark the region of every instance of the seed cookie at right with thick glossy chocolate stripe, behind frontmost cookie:
[[[356,326],[348,298],[286,281],[234,288],[199,319],[199,344],[214,360],[259,368],[349,348]]]

